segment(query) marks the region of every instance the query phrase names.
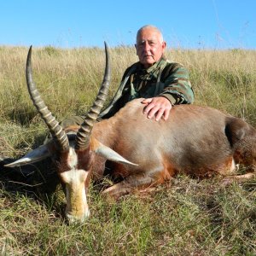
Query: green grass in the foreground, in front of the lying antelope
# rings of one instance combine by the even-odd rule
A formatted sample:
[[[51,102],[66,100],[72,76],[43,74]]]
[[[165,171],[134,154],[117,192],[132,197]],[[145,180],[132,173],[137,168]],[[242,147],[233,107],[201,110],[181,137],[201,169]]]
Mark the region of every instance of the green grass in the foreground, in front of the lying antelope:
[[[61,218],[60,189],[44,201],[3,192],[1,241],[8,253],[33,255],[253,255],[254,187],[178,177],[171,188],[118,203],[92,189],[92,216],[79,225]]]

